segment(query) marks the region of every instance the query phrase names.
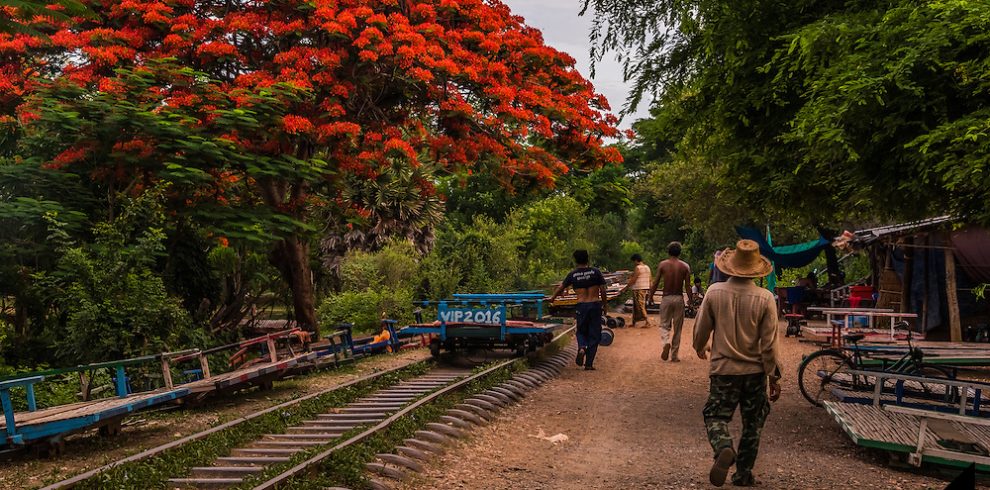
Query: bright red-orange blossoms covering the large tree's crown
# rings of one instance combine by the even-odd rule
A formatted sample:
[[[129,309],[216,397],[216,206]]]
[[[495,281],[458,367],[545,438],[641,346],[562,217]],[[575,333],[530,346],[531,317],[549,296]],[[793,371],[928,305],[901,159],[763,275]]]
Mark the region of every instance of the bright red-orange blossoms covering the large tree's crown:
[[[41,63],[122,94],[116,68],[174,58],[218,80],[216,98],[189,93],[188,80],[163,83],[153,95],[163,110],[200,114],[203,127],[223,120],[213,110],[222,98],[252,109],[254,95],[276,84],[305,89],[282,100],[287,110],[257,134],[218,125],[217,135],[248,152],[326,155],[336,173],[375,175],[398,158],[483,165],[502,180],[552,185],[570,167],[621,160],[603,142],[619,135],[604,97],[572,57],[546,46],[498,0],[286,0],[233,9],[204,0],[87,3],[96,18],[34,23],[47,40],[0,34],[0,114],[13,114],[30,94]],[[20,113],[21,123],[32,117]],[[155,151],[118,144],[132,154]],[[52,164],[84,155],[70,148]]]

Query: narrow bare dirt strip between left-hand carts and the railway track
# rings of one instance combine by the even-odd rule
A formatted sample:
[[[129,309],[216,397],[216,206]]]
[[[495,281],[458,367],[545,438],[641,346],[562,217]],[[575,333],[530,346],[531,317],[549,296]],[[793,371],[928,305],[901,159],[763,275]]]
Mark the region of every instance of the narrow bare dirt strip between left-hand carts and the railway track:
[[[11,459],[0,456],[0,489],[36,488],[64,480],[228,420],[429,355],[426,349],[416,349],[397,355],[374,356],[341,371],[323,371],[276,381],[270,391],[249,390],[224,399],[208,400],[204,405],[190,409],[140,412],[125,419],[120,436],[104,438],[90,431],[69,437],[65,454],[57,459],[39,459],[27,452]]]

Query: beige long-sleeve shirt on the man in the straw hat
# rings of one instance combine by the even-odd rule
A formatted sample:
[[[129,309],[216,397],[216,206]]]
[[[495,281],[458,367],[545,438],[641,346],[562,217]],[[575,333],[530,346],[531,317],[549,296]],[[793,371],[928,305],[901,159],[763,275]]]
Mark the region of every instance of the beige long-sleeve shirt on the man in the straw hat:
[[[702,351],[711,338],[711,374],[780,377],[777,304],[751,279],[713,284],[694,325],[694,350]]]

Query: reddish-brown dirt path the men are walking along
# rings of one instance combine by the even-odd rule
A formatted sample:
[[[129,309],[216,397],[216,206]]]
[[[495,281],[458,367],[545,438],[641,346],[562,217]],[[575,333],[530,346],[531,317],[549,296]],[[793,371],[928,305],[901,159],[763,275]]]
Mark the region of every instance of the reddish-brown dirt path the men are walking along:
[[[690,348],[684,325],[680,363],[660,360],[659,330],[620,329],[599,350],[597,371],[570,366],[491,425],[476,429],[408,488],[708,488],[711,448],[701,409],[708,361]],[[781,326],[783,328],[783,325]],[[783,396],[763,431],[755,474],[762,488],[943,488],[944,479],[894,469],[886,456],[855,446],[797,387],[797,366],[814,349],[783,338]],[[557,445],[534,435],[564,434]],[[733,421],[738,438],[738,412]],[[738,440],[738,439],[737,439]],[[730,484],[727,484],[730,485]]]

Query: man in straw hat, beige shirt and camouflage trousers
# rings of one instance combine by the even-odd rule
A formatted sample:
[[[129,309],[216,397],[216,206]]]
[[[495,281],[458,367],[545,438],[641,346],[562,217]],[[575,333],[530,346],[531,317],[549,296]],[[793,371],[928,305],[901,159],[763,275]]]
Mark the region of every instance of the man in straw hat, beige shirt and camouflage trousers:
[[[735,464],[732,483],[752,486],[756,484],[753,465],[760,431],[770,413],[769,402],[780,397],[776,302],[770,291],[752,279],[770,274],[773,266],[752,240],[740,240],[735,250],[719,255],[716,265],[729,280],[708,289],[694,329],[694,350],[699,358],[706,358],[708,340],[712,340],[711,385],[702,412],[708,442],[715,451],[709,479],[713,485],[722,486]],[[729,434],[729,421],[737,405],[743,426],[738,452]]]

